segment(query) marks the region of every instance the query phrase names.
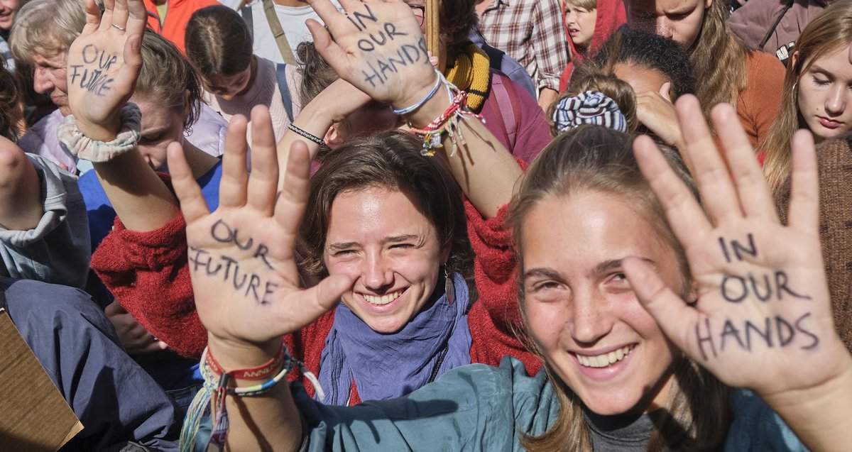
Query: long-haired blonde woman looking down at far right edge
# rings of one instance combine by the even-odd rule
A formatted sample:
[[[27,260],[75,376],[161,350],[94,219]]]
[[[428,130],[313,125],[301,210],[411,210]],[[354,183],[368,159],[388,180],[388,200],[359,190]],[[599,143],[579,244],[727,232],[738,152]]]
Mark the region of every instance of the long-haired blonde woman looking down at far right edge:
[[[790,175],[793,134],[809,129],[814,139],[852,130],[852,2],[832,4],[802,31],[787,66],[781,111],[760,148],[769,186]]]

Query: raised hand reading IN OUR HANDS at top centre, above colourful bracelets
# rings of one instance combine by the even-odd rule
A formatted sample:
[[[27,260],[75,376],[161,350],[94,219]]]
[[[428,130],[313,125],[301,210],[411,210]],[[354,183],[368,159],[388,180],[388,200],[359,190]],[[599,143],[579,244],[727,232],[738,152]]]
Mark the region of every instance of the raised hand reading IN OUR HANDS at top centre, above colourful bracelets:
[[[435,85],[426,39],[402,0],[341,0],[344,13],[330,0],[308,3],[328,27],[308,20],[317,50],[337,75],[371,98],[411,106]]]

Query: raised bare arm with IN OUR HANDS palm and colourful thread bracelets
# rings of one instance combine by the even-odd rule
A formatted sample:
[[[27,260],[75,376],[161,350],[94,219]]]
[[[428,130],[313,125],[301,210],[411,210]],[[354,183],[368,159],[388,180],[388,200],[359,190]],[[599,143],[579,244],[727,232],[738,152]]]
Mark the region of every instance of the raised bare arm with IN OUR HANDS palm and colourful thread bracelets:
[[[437,75],[426,53],[425,38],[402,0],[351,0],[342,3],[346,14],[329,0],[308,3],[328,27],[308,20],[317,50],[344,80],[397,109],[417,105],[432,91]],[[377,43],[371,36],[388,38]],[[423,129],[450,105],[447,90],[440,87],[406,117],[415,128]],[[482,215],[492,217],[509,203],[521,168],[481,121],[468,117],[460,129],[466,144],[459,141],[458,152],[450,156],[452,140],[445,135],[440,155],[450,163],[470,202]]]

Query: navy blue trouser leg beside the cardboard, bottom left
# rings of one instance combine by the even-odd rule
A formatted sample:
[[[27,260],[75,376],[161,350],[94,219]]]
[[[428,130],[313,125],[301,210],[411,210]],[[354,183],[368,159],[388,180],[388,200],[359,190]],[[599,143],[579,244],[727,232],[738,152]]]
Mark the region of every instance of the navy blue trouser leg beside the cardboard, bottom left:
[[[0,277],[0,306],[83,423],[63,451],[177,451],[181,413],[88,295]]]

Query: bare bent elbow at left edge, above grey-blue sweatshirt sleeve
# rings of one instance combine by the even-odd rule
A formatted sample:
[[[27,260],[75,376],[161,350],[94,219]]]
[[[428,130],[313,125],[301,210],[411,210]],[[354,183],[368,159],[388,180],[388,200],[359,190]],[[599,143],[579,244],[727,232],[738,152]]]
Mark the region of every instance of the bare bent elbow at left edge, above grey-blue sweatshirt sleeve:
[[[36,168],[17,148],[3,151],[0,157],[0,225],[10,231],[35,229],[44,215]]]

